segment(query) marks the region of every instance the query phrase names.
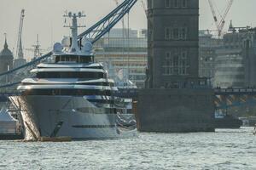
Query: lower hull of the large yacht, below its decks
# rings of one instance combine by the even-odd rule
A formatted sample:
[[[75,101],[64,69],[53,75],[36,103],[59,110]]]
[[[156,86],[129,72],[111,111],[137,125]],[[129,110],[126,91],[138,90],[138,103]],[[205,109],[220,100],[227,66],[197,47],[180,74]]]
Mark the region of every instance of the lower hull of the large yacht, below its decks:
[[[107,113],[83,96],[15,96],[20,108],[26,139],[71,137],[72,139],[113,139],[137,135],[131,114]]]

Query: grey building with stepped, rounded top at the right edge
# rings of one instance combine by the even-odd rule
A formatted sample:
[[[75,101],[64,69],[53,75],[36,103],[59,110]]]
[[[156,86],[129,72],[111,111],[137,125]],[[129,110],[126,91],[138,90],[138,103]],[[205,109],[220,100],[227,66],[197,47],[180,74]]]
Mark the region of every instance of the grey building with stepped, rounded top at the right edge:
[[[216,51],[214,87],[256,87],[256,29],[234,29]]]

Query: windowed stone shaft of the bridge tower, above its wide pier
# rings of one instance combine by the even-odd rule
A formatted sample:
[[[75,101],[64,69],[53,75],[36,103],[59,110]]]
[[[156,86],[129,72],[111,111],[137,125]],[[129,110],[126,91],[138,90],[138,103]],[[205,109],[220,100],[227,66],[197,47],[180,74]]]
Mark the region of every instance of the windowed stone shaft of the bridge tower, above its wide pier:
[[[148,0],[147,88],[198,77],[198,0]]]

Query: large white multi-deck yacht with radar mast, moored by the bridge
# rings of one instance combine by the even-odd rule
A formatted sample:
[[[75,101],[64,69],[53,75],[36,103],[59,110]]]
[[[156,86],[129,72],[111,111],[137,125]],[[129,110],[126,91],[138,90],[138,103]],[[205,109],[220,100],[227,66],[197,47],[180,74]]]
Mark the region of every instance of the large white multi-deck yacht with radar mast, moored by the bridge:
[[[26,139],[71,137],[72,139],[109,139],[137,134],[135,118],[117,101],[112,79],[101,63],[94,62],[92,44],[78,41],[77,18],[72,37],[55,43],[54,62],[37,65],[18,87],[21,96],[11,97],[20,107],[26,127]]]

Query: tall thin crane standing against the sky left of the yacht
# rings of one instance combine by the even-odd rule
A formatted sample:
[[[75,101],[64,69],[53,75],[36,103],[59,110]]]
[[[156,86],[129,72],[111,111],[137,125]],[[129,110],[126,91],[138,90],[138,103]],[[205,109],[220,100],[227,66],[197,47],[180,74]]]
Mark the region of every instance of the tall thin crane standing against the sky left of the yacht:
[[[19,27],[19,32],[18,32],[18,41],[17,41],[17,48],[16,48],[16,59],[23,59],[23,51],[22,51],[22,41],[21,41],[21,36],[22,36],[22,29],[23,29],[23,20],[25,17],[25,9],[21,9],[21,14],[20,14],[20,27]]]

